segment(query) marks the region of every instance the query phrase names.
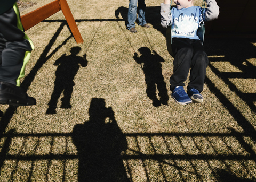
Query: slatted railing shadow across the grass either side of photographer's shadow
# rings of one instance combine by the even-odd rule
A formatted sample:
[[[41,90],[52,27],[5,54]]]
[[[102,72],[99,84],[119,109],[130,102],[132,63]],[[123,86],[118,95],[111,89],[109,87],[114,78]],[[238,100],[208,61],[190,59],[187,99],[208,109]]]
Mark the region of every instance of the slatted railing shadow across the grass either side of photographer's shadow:
[[[142,181],[223,180],[223,171],[229,178],[240,181],[248,177],[256,179],[252,170],[256,166],[254,136],[234,130],[230,133],[124,135],[128,149],[123,151],[122,160],[129,181],[139,178]],[[72,133],[16,134],[11,131],[2,135],[0,148],[0,179],[15,181],[22,177],[24,181],[49,181],[54,176],[54,180],[77,181],[81,175],[78,174],[81,156],[72,142]]]

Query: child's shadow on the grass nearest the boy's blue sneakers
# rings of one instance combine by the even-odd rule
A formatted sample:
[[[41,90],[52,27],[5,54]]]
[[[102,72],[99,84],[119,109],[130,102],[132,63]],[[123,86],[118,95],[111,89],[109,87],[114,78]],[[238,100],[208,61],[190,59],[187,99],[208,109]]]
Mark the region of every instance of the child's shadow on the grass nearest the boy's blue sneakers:
[[[151,54],[151,50],[147,47],[141,47],[138,49],[141,56],[138,57],[137,53],[134,53],[134,60],[141,65],[143,73],[145,74],[145,82],[147,85],[147,96],[153,101],[153,106],[167,105],[169,100],[166,83],[164,82],[164,76],[162,75],[162,64],[164,59],[159,56],[156,51]],[[142,65],[143,64],[143,65]],[[158,90],[158,100],[156,96],[156,88]]]

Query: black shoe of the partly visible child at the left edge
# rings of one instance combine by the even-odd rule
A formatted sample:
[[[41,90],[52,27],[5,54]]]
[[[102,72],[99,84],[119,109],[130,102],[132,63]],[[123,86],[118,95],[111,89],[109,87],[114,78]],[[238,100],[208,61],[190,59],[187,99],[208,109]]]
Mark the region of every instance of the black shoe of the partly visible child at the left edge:
[[[36,105],[36,99],[29,97],[21,87],[0,81],[0,104],[30,106]]]

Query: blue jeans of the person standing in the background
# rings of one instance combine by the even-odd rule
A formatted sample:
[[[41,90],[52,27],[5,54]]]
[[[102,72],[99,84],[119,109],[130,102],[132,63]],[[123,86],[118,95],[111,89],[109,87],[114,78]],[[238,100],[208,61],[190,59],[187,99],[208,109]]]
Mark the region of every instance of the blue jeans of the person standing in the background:
[[[128,30],[135,27],[135,21],[137,18],[137,1],[139,1],[138,2],[139,25],[142,26],[147,23],[145,20],[145,10],[146,10],[145,0],[130,0],[129,9],[128,9],[128,24],[127,24]]]

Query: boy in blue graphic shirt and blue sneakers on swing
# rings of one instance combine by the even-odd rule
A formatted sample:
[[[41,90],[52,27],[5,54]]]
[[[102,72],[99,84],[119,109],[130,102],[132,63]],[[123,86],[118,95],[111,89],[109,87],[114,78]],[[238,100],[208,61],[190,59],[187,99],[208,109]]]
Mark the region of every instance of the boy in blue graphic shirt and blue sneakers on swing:
[[[170,78],[172,98],[181,105],[191,102],[203,102],[204,79],[208,57],[197,29],[202,21],[217,19],[219,6],[215,0],[206,0],[207,9],[194,6],[194,0],[174,0],[177,5],[172,8],[170,16],[170,0],[161,3],[161,24],[167,28],[172,26],[173,75]],[[187,93],[183,86],[190,70]]]

